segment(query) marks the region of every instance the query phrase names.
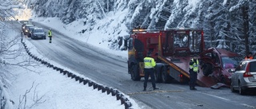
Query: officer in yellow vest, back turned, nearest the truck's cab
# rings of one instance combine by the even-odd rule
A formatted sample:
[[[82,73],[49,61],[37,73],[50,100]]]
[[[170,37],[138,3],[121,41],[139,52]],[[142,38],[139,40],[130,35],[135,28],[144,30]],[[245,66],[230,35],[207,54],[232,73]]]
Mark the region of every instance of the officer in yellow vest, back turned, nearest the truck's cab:
[[[156,90],[158,88],[155,87],[155,79],[154,79],[154,66],[155,61],[154,58],[150,57],[151,53],[147,53],[147,56],[144,58],[144,73],[145,73],[145,80],[144,80],[144,89],[143,91],[146,91],[146,85],[147,81],[149,79],[149,76],[152,81],[153,89]]]

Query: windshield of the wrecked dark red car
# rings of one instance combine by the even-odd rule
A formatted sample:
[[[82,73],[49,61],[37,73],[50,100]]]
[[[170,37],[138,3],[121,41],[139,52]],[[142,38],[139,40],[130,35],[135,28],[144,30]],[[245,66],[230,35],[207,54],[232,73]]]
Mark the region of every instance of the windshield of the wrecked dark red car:
[[[241,60],[238,56],[222,56],[223,68],[236,68]]]

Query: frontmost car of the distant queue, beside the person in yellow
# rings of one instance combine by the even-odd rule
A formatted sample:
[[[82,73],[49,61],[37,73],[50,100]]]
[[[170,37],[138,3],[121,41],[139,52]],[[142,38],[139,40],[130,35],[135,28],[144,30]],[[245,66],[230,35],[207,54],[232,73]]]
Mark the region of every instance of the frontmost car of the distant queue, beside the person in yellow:
[[[31,32],[31,39],[46,39],[46,32],[42,28],[34,28]]]

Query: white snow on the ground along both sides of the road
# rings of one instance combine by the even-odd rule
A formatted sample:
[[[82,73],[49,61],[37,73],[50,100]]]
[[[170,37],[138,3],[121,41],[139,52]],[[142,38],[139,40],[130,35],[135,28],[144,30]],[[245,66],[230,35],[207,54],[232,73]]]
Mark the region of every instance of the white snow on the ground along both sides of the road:
[[[77,24],[71,24],[77,26],[69,26],[68,28],[67,25],[62,24],[58,18],[33,18],[33,21],[41,22],[42,24],[50,26],[51,29],[58,29],[59,32],[63,32],[70,37],[80,41],[85,41],[84,37],[79,36],[76,31],[79,26],[82,26],[81,22],[79,21],[76,22]],[[10,29],[10,32],[7,33],[9,33],[7,36],[13,38],[20,36],[20,33],[14,33],[12,29]],[[101,33],[99,35],[101,35]],[[30,52],[35,56],[41,57],[43,60],[49,61],[59,68],[65,68],[51,60],[47,60],[45,57],[42,57],[34,45],[30,43],[30,41],[24,41],[28,48],[30,48]],[[98,41],[98,37],[95,37],[95,39],[90,37],[90,40],[85,42],[89,41]],[[97,43],[95,46],[105,49],[109,53],[114,53],[118,56],[123,56],[126,58],[126,51],[114,51],[108,49],[107,45],[108,44],[99,45],[99,43]],[[21,46],[21,44],[19,43],[18,45],[15,45],[13,49],[17,49],[18,46]],[[28,58],[30,57],[24,50],[22,51],[21,56],[18,56],[18,58],[3,60],[6,60],[8,63],[17,63],[17,61],[23,61]],[[5,72],[6,74],[5,76],[2,76],[2,78],[6,78],[2,81],[3,84],[6,84],[6,86],[2,86],[4,88],[4,93],[2,93],[2,95],[6,95],[7,98],[6,108],[125,108],[123,104],[121,105],[120,100],[117,100],[115,96],[97,91],[97,89],[88,87],[88,85],[79,84],[78,81],[75,81],[74,79],[71,80],[69,77],[63,76],[52,68],[47,68],[46,65],[40,64],[31,58],[30,65],[26,66],[25,68],[5,64],[1,65],[5,66],[2,67],[4,68],[2,69],[2,72]],[[85,76],[81,77],[86,78]],[[129,98],[129,96],[127,97]],[[130,99],[130,102],[133,104],[133,108],[140,108],[133,99]]]

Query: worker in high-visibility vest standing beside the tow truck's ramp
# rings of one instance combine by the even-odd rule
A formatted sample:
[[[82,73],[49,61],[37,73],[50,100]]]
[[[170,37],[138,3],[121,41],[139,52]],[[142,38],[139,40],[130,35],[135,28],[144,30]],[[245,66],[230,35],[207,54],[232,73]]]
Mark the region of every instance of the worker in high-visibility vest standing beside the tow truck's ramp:
[[[198,72],[199,72],[199,61],[197,56],[193,56],[190,59],[190,90],[197,90],[195,87],[196,81],[198,80]]]

